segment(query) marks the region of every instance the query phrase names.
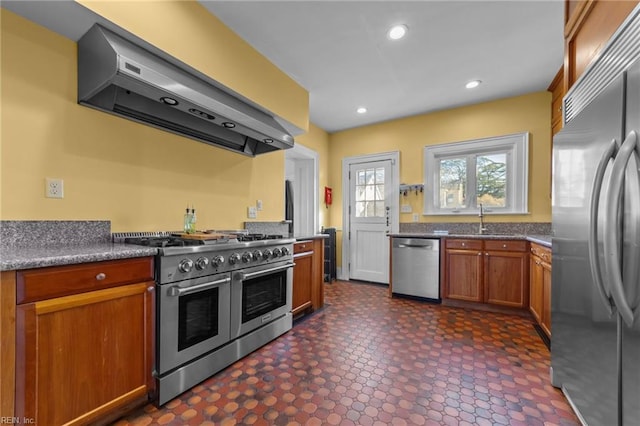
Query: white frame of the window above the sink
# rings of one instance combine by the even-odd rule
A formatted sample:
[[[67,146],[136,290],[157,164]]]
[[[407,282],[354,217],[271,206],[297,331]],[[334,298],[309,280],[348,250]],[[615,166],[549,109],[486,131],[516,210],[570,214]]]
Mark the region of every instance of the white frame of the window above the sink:
[[[476,167],[471,161],[478,155],[507,154],[507,190],[505,207],[485,207],[491,214],[529,214],[529,132],[514,133],[463,142],[450,142],[424,147],[424,205],[423,215],[476,215],[479,208],[440,207],[440,160],[464,158],[467,163],[466,193],[468,200],[476,199]],[[473,165],[471,168],[469,165]],[[471,186],[473,184],[473,186]],[[472,203],[468,203],[472,204]]]

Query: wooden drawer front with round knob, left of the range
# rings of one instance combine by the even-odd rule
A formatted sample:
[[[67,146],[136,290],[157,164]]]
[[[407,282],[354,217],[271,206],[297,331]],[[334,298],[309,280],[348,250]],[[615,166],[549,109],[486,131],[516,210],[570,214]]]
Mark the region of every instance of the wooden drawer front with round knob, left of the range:
[[[27,303],[153,280],[153,258],[110,260],[19,271],[16,302]]]

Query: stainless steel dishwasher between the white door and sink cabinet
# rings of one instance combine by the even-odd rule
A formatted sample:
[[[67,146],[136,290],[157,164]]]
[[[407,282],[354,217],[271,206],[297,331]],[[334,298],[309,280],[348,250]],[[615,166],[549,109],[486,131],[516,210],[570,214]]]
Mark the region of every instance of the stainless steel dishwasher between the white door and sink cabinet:
[[[393,238],[391,248],[393,294],[440,300],[440,240]]]

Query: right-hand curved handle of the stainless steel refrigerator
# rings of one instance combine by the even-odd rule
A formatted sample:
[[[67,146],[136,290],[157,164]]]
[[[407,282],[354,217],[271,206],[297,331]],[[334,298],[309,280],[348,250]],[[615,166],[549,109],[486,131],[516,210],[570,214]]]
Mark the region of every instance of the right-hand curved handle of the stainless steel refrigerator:
[[[609,193],[607,195],[606,222],[607,230],[604,235],[604,262],[607,276],[611,282],[611,296],[616,308],[624,322],[631,327],[634,321],[634,312],[627,303],[624,292],[621,270],[620,253],[620,229],[618,226],[618,214],[622,201],[622,190],[624,184],[627,163],[635,153],[636,159],[640,159],[640,147],[635,131],[629,132],[626,139],[620,146],[618,155],[613,162],[611,170],[611,180],[609,183]]]

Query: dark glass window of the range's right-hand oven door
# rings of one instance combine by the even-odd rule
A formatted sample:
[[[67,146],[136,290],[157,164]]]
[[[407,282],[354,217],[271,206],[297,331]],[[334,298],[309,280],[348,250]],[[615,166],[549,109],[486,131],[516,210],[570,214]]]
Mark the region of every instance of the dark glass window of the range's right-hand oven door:
[[[287,304],[287,271],[243,281],[242,322]]]

